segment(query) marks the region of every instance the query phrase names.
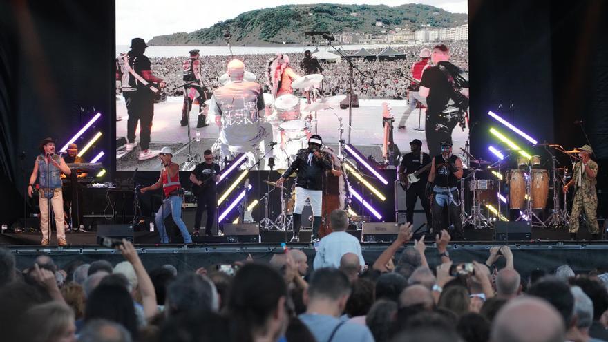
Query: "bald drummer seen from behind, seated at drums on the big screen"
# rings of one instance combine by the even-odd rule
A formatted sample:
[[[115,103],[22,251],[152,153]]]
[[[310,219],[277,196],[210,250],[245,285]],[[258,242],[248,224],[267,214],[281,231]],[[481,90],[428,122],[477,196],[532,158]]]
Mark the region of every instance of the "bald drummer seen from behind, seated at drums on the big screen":
[[[264,142],[263,147],[272,142],[272,126],[260,122],[265,108],[262,87],[243,80],[243,61],[233,59],[227,69],[230,82],[213,92],[209,115],[216,115],[216,124],[220,127],[222,155],[253,152],[249,156],[252,164],[263,155],[260,142]]]

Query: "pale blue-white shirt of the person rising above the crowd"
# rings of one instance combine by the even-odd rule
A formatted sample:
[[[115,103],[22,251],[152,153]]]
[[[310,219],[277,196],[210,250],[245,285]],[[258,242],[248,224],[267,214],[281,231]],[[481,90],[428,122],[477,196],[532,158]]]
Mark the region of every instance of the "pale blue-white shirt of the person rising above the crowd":
[[[314,269],[338,268],[340,267],[340,259],[347,253],[357,254],[361,267],[365,265],[359,240],[345,231],[334,231],[319,242],[319,249],[316,251],[312,266]]]

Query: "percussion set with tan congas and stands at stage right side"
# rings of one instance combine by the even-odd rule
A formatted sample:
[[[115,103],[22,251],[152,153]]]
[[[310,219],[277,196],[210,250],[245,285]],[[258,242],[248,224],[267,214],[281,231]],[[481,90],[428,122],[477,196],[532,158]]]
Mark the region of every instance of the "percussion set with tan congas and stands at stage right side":
[[[544,146],[547,153],[551,155],[550,169],[544,169],[540,155],[532,155],[531,158],[523,156],[517,157],[517,169],[509,169],[502,173],[501,165],[506,162],[499,160],[495,164],[490,164],[484,160],[477,160],[470,153],[464,151],[471,160],[471,167],[468,175],[461,180],[461,189],[466,189],[471,195],[471,213],[467,214],[464,210],[464,193],[461,193],[461,219],[462,223],[473,225],[476,229],[491,227],[496,220],[505,219],[501,214],[501,202],[508,203],[510,210],[519,211],[517,221],[526,220],[534,227],[558,227],[568,225],[569,215],[566,210],[566,198],[560,200],[560,189],[569,179],[565,167],[558,167],[557,157],[549,148],[555,149],[569,155],[572,160],[576,160],[578,150],[566,151],[557,144],[538,144]],[[500,178],[497,179],[477,179],[480,171],[491,171]],[[505,184],[508,185],[508,196],[501,194],[501,183],[504,176]],[[468,187],[464,186],[468,182]],[[542,220],[537,213],[547,209],[549,200],[549,190],[553,190],[553,209],[549,216]],[[484,207],[495,210],[482,210]],[[496,205],[496,207],[493,207]],[[497,209],[496,209],[497,208]],[[486,215],[484,215],[486,213]]]

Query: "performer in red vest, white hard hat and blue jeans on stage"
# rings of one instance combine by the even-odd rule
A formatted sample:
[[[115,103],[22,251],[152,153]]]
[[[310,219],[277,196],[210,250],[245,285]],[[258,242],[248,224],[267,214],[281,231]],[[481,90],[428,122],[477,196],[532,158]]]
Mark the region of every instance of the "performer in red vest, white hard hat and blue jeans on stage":
[[[160,177],[158,181],[149,187],[140,189],[141,193],[146,193],[149,190],[162,188],[164,200],[156,213],[154,221],[158,234],[160,235],[160,243],[169,243],[167,229],[164,227],[164,219],[173,216],[173,222],[178,226],[184,237],[184,243],[192,243],[192,238],[186,228],[184,220],[182,220],[182,184],[180,183],[180,165],[171,161],[173,151],[169,147],[163,147],[160,150],[159,159],[161,163]]]

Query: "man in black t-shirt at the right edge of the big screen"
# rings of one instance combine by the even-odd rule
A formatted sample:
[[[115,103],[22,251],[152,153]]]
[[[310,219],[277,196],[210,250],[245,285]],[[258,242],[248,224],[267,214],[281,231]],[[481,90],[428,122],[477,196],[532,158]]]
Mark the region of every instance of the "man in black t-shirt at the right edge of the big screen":
[[[456,124],[464,130],[468,111],[468,80],[460,68],[451,64],[450,49],[444,44],[433,47],[433,66],[426,68],[418,95],[426,99],[426,146],[430,155],[441,153],[440,142],[452,140]]]

